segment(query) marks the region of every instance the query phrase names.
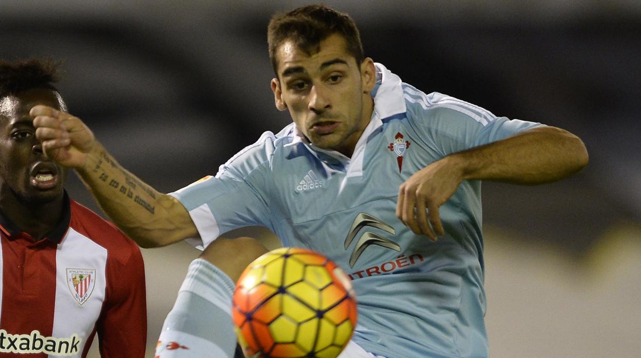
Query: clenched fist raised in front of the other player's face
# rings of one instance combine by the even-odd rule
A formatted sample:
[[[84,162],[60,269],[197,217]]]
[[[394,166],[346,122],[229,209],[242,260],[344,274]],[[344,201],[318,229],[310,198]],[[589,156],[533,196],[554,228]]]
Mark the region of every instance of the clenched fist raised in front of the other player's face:
[[[49,158],[68,168],[85,165],[96,138],[78,117],[42,105],[31,108],[29,115]]]

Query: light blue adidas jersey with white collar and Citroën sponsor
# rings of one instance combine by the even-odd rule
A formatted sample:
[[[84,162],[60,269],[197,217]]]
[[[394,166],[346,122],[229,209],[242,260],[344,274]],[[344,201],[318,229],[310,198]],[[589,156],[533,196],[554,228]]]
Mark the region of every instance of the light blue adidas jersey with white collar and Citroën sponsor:
[[[306,142],[294,124],[263,133],[215,177],[176,193],[202,241],[247,225],[283,246],[325,254],[353,279],[353,340],[386,357],[486,357],[481,183],[440,207],[445,236],[417,236],[395,216],[399,186],[449,154],[541,126],[426,95],[376,64],[374,113],[352,158]]]

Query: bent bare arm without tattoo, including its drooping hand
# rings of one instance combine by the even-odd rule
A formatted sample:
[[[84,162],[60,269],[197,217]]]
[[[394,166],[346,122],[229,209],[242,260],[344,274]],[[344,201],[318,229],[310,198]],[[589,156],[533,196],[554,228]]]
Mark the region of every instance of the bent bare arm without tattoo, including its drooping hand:
[[[551,183],[579,172],[587,163],[585,145],[574,134],[556,127],[529,129],[422,168],[401,184],[396,216],[415,234],[437,240],[436,234],[444,234],[438,207],[463,180]]]

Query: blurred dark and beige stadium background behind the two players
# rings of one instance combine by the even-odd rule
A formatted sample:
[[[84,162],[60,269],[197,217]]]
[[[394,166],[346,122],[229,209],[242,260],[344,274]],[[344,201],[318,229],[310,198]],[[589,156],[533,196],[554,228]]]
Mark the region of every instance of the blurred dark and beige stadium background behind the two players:
[[[590,165],[561,183],[484,184],[492,356],[638,357],[641,3],[325,3],[353,16],[367,56],[424,92],[563,127],[587,144]],[[0,58],[63,60],[71,112],[122,165],[169,192],[290,121],[269,90],[265,29],[272,12],[300,4],[0,0]],[[99,211],[74,175],[67,188]],[[262,229],[233,234],[276,245]],[[143,254],[153,357],[198,252],[179,243]]]

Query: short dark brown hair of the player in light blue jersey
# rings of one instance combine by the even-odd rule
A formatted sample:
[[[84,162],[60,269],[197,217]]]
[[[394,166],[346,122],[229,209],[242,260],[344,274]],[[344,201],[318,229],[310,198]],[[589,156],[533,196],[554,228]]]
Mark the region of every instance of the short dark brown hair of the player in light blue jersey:
[[[267,26],[269,58],[276,77],[276,50],[283,42],[294,40],[297,47],[311,54],[320,50],[322,40],[334,34],[345,39],[347,52],[356,59],[356,64],[360,65],[365,58],[363,44],[354,20],[347,13],[324,5],[307,5],[287,13],[276,13]]]

